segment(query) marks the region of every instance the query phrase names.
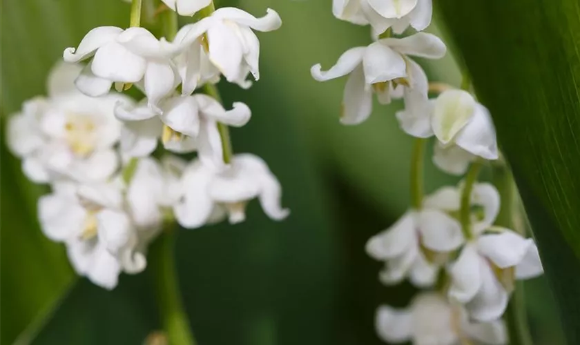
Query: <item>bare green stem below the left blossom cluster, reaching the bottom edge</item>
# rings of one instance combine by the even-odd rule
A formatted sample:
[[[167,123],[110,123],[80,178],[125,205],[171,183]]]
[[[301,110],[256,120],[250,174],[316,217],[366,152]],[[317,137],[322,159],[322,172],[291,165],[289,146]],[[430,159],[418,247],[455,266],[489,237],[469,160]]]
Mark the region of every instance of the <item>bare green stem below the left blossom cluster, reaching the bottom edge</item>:
[[[151,246],[151,269],[155,280],[157,305],[169,344],[195,345],[177,282],[174,247],[175,231],[171,227],[167,227]]]

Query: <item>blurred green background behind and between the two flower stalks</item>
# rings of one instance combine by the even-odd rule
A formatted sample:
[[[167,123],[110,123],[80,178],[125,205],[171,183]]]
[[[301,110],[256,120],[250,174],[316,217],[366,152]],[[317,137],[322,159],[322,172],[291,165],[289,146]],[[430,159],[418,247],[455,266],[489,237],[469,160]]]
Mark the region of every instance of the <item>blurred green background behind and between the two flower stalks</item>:
[[[46,94],[46,75],[64,48],[95,26],[126,26],[129,5],[0,3],[0,344],[141,344],[160,328],[150,270],[122,275],[113,292],[76,277],[64,247],[43,237],[37,224],[36,201],[48,188],[23,177],[3,129],[24,100]],[[258,33],[262,79],[250,90],[219,87],[226,104],[244,101],[253,110],[250,123],[233,130],[235,152],[269,163],[292,213],[276,223],[252,203],[244,224],[179,232],[177,265],[195,336],[202,345],[381,344],[377,306],[405,306],[415,290],[382,286],[381,264],[364,245],[407,208],[411,141],[394,118],[398,103],[376,105],[360,126],[340,125],[345,79],[318,83],[309,72],[367,45],[369,29],[335,19],[331,0],[217,5],[256,16],[270,7],[284,21],[276,32]],[[458,85],[451,54],[420,62],[433,80]],[[430,159],[425,175],[427,192],[456,183]],[[544,279],[525,288],[535,342],[563,344]]]

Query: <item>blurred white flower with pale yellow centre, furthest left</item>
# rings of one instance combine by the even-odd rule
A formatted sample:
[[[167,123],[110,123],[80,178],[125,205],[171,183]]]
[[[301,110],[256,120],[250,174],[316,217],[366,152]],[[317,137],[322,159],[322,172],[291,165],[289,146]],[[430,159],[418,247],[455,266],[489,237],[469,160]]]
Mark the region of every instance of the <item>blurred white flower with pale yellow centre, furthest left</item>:
[[[73,84],[79,71],[79,66],[57,65],[48,78],[48,98],[27,101],[9,120],[8,145],[23,159],[23,170],[32,181],[104,181],[117,170],[114,146],[122,124],[113,108],[130,100],[123,95],[82,95]]]

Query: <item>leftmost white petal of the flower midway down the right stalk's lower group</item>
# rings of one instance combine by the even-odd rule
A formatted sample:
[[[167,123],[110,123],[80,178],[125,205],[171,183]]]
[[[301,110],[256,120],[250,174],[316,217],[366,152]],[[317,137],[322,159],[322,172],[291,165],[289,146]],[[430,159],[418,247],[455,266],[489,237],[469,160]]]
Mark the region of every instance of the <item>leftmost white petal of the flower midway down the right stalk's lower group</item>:
[[[407,212],[395,224],[369,239],[365,250],[377,260],[403,255],[416,241],[415,213]]]

